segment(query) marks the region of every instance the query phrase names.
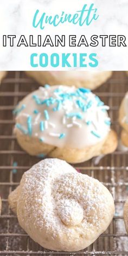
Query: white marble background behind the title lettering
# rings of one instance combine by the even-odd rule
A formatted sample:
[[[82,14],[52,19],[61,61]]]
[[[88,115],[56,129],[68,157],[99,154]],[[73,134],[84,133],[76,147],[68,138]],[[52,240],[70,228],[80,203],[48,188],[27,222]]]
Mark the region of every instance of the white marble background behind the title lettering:
[[[77,10],[81,10],[84,4],[94,3],[98,8],[99,19],[91,25],[79,27],[65,23],[54,28],[47,25],[44,30],[34,29],[32,26],[33,17],[36,9],[40,10],[40,14],[44,11],[47,14],[61,14],[62,10],[67,14],[74,14]],[[99,70],[127,70],[128,69],[128,48],[127,47],[2,47],[2,35],[16,35],[17,40],[20,35],[54,35],[65,34],[86,35],[87,38],[93,34],[97,35],[125,35],[128,45],[128,1],[127,0],[4,0],[0,1],[0,70],[27,70],[30,67],[30,54],[33,52],[49,55],[52,52],[57,53],[97,53],[99,60]],[[35,70],[42,70],[41,67]],[[62,70],[58,68],[48,67],[46,70]],[[85,68],[88,70],[90,68]],[[69,69],[67,69],[69,70]],[[82,70],[84,70],[82,68]],[[92,69],[91,69],[92,70]]]

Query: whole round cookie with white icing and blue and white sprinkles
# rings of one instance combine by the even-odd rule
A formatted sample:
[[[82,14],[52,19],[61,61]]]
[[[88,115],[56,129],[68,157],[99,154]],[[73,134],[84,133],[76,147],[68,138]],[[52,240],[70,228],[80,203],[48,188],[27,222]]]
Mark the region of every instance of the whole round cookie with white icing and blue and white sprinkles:
[[[46,85],[18,104],[14,132],[30,155],[84,162],[117,147],[108,108],[89,89]]]

